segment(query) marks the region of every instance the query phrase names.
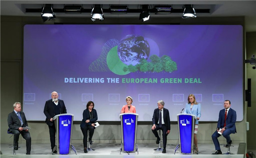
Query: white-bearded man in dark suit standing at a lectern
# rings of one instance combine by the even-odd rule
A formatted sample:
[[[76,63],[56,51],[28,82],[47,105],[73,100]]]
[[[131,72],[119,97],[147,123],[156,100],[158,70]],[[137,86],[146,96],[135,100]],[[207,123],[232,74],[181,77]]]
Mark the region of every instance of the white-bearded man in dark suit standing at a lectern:
[[[58,99],[57,92],[52,92],[52,99],[47,100],[45,102],[44,113],[46,116],[45,122],[49,127],[51,148],[53,153],[57,153],[57,150],[55,149],[53,150],[53,148],[55,147],[55,134],[56,134],[56,128],[53,121],[53,117],[55,115],[67,113],[64,101]]]

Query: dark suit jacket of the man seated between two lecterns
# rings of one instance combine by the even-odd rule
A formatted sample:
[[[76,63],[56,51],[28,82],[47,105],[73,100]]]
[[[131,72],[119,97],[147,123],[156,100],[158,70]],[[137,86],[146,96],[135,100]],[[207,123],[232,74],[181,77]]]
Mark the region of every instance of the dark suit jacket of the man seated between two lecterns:
[[[154,109],[154,114],[152,118],[153,124],[157,124],[158,120],[159,120],[159,109],[156,108]],[[164,124],[167,126],[167,129],[171,130],[170,115],[167,108],[163,108],[163,121],[164,121]]]

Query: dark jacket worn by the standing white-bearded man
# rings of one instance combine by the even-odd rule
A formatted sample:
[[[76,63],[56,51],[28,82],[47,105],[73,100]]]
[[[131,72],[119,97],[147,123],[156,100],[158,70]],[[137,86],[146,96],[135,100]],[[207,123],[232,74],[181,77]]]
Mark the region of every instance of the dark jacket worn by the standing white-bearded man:
[[[66,110],[64,101],[60,100],[60,99],[58,99],[58,101],[59,101],[59,104],[61,105],[61,114],[66,114],[67,110]],[[54,107],[55,106],[56,106],[56,104],[53,103],[52,99],[47,100],[45,102],[45,108],[44,108],[44,113],[45,113],[45,116],[46,116],[45,122],[49,126],[53,126],[53,122],[51,122],[50,119],[55,116],[55,113],[54,113]]]

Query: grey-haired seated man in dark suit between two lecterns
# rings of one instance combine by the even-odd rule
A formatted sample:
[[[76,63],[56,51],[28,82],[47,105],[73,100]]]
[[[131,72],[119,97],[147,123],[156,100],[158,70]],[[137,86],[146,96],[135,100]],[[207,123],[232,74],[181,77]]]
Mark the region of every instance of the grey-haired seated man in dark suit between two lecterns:
[[[158,108],[154,109],[152,118],[153,126],[151,127],[154,136],[157,138],[156,143],[159,144],[160,137],[158,136],[157,130],[161,129],[163,132],[163,152],[166,153],[167,135],[171,130],[170,115],[166,108],[163,108],[163,100],[157,102]]]

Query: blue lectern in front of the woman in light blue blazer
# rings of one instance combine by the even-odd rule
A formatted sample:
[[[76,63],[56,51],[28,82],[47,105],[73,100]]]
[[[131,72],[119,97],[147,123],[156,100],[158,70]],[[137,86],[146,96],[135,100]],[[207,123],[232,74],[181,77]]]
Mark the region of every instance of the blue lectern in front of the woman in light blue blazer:
[[[193,154],[195,116],[191,114],[178,114],[177,117],[179,151],[183,154]]]

